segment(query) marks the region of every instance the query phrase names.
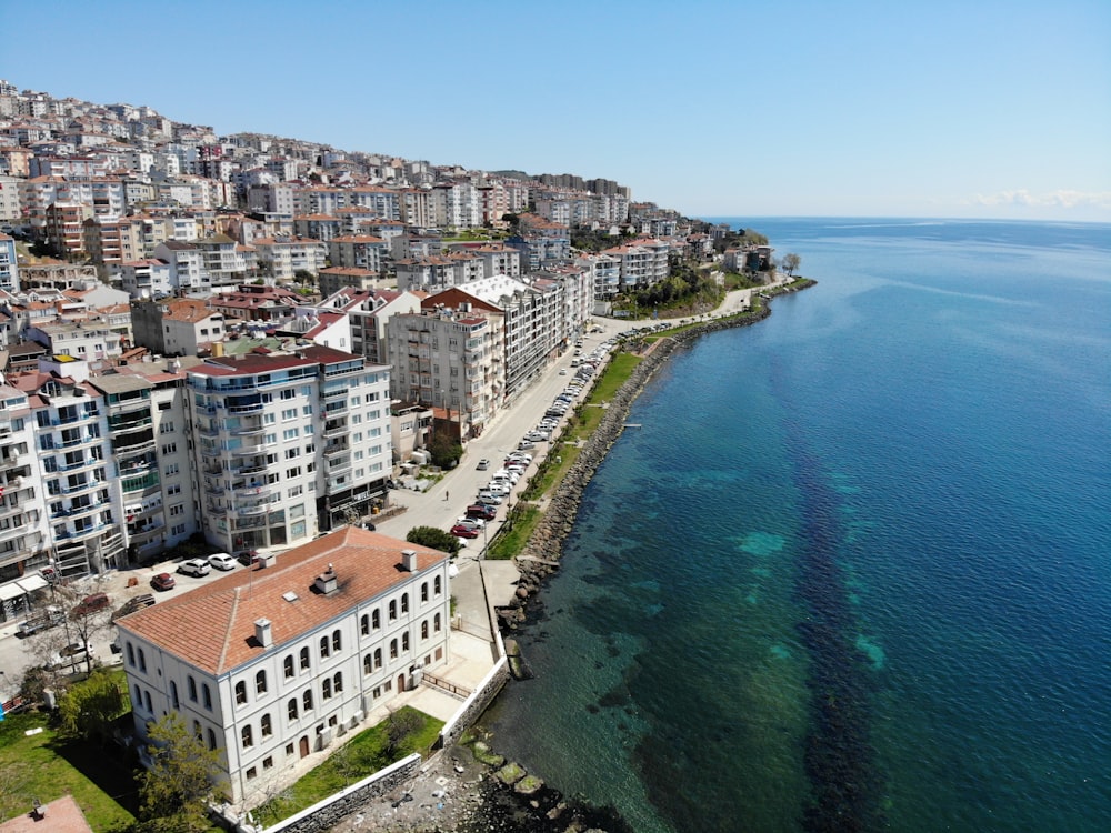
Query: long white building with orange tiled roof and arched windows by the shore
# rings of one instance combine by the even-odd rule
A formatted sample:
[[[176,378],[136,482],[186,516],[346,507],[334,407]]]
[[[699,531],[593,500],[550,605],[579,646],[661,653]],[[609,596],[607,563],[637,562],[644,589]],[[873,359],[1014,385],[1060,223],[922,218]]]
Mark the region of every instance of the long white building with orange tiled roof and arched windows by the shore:
[[[348,526],[263,564],[117,623],[138,735],[178,712],[219,753],[219,785],[240,807],[451,650],[442,552]]]

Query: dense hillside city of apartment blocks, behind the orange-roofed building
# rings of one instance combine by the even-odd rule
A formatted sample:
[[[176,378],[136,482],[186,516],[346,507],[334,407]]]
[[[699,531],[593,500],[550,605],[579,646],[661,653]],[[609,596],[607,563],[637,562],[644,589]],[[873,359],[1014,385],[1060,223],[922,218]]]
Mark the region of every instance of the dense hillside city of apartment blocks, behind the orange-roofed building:
[[[0,621],[28,575],[364,519],[592,317],[677,274],[759,275],[767,242],[610,180],[219,137],[0,81]]]

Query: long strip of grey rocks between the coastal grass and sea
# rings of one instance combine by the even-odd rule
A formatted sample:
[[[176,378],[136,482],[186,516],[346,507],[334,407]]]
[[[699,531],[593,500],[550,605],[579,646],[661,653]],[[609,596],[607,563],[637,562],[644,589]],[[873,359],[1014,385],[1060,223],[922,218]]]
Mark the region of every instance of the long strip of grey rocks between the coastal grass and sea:
[[[771,299],[774,295],[798,292],[814,285],[815,281],[800,279],[787,287],[769,288],[761,295]],[[664,335],[655,341],[644,354],[644,361],[637,365],[609,402],[605,415],[598,430],[587,440],[562,482],[552,494],[544,516],[537,524],[529,542],[517,558],[520,579],[517,593],[510,604],[499,609],[499,619],[503,628],[512,630],[524,621],[528,603],[543,584],[543,581],[558,570],[559,560],[563,554],[563,541],[574,528],[575,515],[582,501],[582,493],[594,475],[598,466],[618,436],[624,430],[629,409],[637,397],[648,384],[657,369],[671,358],[680,347],[719,330],[730,330],[735,327],[748,327],[763,321],[771,315],[771,308],[765,302],[759,310],[712,319],[695,327],[681,330],[672,335]]]

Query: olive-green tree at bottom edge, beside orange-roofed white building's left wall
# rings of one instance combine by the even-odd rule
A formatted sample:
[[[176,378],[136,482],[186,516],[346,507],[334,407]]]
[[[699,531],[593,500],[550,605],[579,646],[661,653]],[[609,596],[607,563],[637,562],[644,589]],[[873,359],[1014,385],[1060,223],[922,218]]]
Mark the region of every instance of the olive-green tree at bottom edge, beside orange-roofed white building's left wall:
[[[219,772],[219,753],[189,731],[177,712],[150,724],[151,759],[139,773],[140,813],[146,820],[172,820],[180,831],[208,830],[206,805]]]

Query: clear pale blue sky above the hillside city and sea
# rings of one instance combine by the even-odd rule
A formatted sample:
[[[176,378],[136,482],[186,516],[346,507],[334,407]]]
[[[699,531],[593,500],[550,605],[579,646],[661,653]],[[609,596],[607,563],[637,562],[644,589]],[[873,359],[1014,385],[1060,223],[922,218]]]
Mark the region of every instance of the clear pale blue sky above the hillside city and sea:
[[[17,2],[0,78],[695,217],[1111,221],[1108,0]]]

